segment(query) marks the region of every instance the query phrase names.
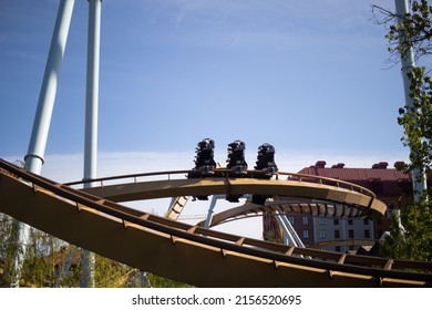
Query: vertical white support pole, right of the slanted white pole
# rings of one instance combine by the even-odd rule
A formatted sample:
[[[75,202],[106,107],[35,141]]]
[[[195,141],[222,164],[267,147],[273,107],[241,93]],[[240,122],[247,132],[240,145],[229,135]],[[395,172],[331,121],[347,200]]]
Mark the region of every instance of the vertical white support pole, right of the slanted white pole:
[[[89,0],[84,179],[96,177],[101,4],[101,0]],[[91,186],[91,183],[85,184],[85,187]],[[95,255],[83,250],[81,287],[94,287],[94,261]]]

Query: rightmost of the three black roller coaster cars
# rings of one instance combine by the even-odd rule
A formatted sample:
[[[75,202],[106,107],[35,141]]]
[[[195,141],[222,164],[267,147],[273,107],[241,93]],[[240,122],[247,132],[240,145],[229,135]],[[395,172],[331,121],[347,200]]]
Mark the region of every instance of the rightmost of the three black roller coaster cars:
[[[264,179],[270,179],[278,172],[275,163],[275,147],[271,144],[265,143],[258,147],[257,162],[254,168],[264,172],[263,174],[256,174],[254,177]],[[251,203],[263,206],[266,204],[266,199],[270,197],[266,195],[253,195]]]

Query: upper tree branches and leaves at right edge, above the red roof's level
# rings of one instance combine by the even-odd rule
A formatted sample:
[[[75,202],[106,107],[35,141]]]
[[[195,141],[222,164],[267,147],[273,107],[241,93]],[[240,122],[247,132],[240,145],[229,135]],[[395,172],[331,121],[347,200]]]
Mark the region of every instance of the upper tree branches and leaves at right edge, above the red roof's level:
[[[411,12],[404,17],[372,6],[380,12],[376,18],[379,24],[390,24],[385,35],[389,42],[390,60],[399,63],[413,53],[415,61],[428,62],[432,53],[432,7],[426,0],[411,1]],[[426,66],[407,70],[410,80],[412,105],[399,108],[398,123],[404,130],[401,137],[404,146],[410,147],[408,170],[431,170],[432,166],[432,79]]]

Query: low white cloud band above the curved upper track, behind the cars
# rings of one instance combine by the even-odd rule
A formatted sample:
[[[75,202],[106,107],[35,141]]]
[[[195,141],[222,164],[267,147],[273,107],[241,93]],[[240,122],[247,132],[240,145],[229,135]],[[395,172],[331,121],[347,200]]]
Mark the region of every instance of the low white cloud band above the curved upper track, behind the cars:
[[[408,151],[377,153],[351,153],[349,151],[292,151],[276,152],[275,159],[281,172],[297,173],[317,161],[326,161],[328,166],[344,163],[346,167],[368,168],[379,162],[408,161]],[[97,156],[97,177],[127,175],[150,172],[184,170],[194,167],[195,153],[191,152],[100,152]],[[9,162],[22,159],[22,156],[8,156]],[[83,154],[49,154],[45,156],[42,175],[59,183],[80,180],[83,176]],[[215,152],[215,161],[225,164],[224,149]],[[250,169],[256,162],[256,152],[246,153]]]

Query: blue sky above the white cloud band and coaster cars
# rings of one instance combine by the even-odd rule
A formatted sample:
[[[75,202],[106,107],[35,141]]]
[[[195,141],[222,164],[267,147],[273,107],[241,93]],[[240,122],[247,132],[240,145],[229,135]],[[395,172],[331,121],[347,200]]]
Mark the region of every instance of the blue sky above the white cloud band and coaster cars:
[[[0,157],[27,153],[59,2],[0,0]],[[204,137],[222,156],[235,140],[251,158],[265,142],[317,161],[407,154],[400,68],[387,63],[371,4],[394,6],[104,0],[99,151],[189,152],[185,167]],[[86,27],[88,1],[76,0],[48,155],[83,152]]]

